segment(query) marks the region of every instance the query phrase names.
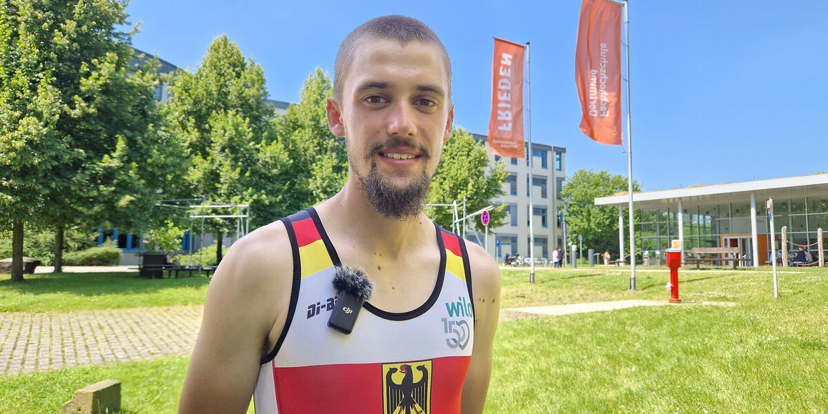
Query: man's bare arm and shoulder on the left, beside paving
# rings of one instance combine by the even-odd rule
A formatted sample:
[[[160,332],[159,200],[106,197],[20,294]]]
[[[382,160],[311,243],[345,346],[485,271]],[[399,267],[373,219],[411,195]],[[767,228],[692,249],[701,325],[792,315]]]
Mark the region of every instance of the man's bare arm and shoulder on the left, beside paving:
[[[180,414],[247,412],[262,350],[284,325],[291,267],[281,223],[233,244],[210,281]]]

